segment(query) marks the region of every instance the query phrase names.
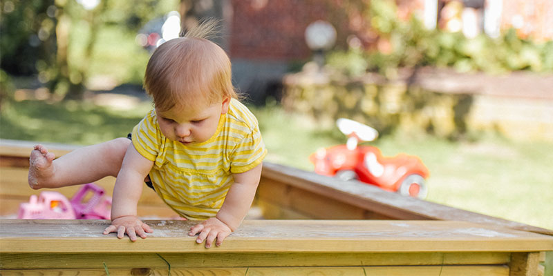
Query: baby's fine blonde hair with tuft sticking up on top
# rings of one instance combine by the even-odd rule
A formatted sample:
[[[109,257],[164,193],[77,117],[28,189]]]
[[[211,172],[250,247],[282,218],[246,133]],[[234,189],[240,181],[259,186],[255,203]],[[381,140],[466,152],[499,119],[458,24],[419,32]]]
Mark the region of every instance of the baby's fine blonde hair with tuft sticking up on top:
[[[144,74],[144,89],[156,108],[165,111],[238,97],[229,57],[208,40],[216,34],[217,23],[203,21],[184,37],[171,39],[153,52]]]

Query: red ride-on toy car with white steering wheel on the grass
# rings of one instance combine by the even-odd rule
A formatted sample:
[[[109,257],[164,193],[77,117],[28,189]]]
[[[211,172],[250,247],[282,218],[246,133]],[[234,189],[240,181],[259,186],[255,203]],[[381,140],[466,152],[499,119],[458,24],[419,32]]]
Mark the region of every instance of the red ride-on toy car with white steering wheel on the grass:
[[[374,146],[358,146],[360,141],[375,140],[377,130],[344,118],[336,124],[348,141],[313,153],[310,161],[315,164],[315,172],[343,180],[357,179],[401,195],[420,199],[427,196],[425,179],[429,170],[418,157],[404,153],[384,157]]]

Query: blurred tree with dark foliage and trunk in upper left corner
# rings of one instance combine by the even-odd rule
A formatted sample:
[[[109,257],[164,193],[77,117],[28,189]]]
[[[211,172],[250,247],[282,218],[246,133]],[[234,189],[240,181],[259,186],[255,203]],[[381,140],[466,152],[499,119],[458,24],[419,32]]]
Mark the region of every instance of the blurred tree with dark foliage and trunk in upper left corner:
[[[78,98],[102,28],[135,32],[176,10],[178,0],[6,0],[0,5],[1,69],[10,75],[37,75],[50,92]]]

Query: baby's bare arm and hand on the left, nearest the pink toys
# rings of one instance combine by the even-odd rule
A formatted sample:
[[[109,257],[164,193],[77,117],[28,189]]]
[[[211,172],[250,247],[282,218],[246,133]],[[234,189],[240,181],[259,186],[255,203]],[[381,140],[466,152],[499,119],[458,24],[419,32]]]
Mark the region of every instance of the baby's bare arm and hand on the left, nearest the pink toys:
[[[104,230],[104,235],[116,232],[117,237],[122,239],[126,233],[134,242],[137,234],[144,239],[147,237],[146,233],[153,232],[136,216],[136,206],[142,195],[142,182],[152,166],[153,161],[140,155],[133,144],[129,145],[113,188],[111,226]]]

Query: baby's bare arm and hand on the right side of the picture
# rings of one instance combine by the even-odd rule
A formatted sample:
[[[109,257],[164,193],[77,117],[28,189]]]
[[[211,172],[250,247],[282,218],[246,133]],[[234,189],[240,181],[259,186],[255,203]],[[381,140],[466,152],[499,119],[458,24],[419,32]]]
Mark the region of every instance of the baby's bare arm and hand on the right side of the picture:
[[[262,166],[259,164],[247,172],[235,174],[234,184],[229,188],[225,202],[216,217],[192,227],[188,235],[194,236],[200,233],[196,242],[201,244],[205,240],[205,248],[210,248],[215,239],[217,239],[216,246],[221,246],[223,240],[240,226],[247,211],[250,210],[259,185]]]

